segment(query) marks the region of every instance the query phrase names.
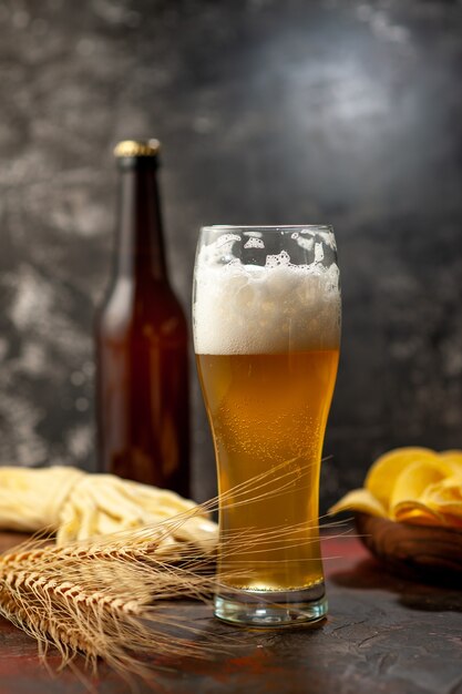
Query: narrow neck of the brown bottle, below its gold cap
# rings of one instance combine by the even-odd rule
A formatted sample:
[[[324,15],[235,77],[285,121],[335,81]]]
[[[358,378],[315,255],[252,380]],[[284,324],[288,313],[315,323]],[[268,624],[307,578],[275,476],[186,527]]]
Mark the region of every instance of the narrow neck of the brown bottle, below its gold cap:
[[[154,162],[135,162],[120,174],[117,275],[167,279],[161,201]]]

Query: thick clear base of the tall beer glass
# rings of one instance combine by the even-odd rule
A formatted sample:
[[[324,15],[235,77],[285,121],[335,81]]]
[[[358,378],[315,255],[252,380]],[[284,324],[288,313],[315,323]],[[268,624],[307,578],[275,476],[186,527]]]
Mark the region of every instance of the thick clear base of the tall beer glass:
[[[215,616],[259,629],[314,624],[327,615],[324,582],[299,591],[239,591],[215,595]]]

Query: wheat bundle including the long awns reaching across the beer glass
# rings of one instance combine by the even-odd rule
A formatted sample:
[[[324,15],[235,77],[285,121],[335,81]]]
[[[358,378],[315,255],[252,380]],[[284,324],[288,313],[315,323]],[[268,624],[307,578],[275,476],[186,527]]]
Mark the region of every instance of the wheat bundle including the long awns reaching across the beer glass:
[[[227,503],[249,503],[274,494],[299,478],[294,461],[233,489],[222,498]],[[163,601],[187,598],[209,603],[216,588],[214,575],[216,538],[209,544],[179,541],[183,525],[192,518],[216,509],[213,499],[172,519],[141,530],[105,535],[69,547],[35,540],[0,557],[0,613],[33,636],[44,660],[50,646],[61,655],[62,666],[83,653],[93,672],[99,657],[126,675],[146,675],[156,656],[208,657],[229,651],[237,637],[205,635]],[[249,529],[227,544],[255,548],[256,541],[304,542],[301,530],[268,529],[261,535]],[[238,575],[238,562],[229,578]],[[165,605],[165,602],[164,602]]]

